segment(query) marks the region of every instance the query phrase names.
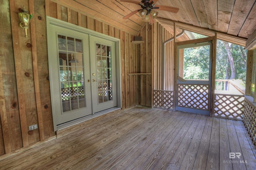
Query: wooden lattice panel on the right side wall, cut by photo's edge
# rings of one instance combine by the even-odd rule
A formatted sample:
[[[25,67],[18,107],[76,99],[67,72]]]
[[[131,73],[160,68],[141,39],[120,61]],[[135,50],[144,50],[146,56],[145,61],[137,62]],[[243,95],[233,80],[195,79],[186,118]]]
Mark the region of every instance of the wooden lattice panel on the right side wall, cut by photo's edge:
[[[256,145],[256,106],[245,99],[244,102],[244,125],[252,139],[254,145]]]

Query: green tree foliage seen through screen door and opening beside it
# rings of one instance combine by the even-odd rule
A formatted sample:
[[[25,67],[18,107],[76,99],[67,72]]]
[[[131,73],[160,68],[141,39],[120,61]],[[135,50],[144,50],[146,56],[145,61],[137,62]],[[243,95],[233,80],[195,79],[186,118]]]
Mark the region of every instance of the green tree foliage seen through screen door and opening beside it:
[[[193,33],[196,39],[206,37]],[[243,47],[232,44],[231,53],[235,67],[235,79],[246,81],[247,51]],[[231,75],[230,62],[223,41],[217,40],[216,79],[226,79]],[[184,78],[208,79],[209,46],[184,49]]]

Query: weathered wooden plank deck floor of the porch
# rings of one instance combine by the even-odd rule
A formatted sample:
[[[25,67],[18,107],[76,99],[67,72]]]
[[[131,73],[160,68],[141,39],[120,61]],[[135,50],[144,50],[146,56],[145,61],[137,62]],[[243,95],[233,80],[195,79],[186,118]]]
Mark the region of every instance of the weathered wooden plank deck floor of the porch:
[[[256,149],[241,121],[136,107],[69,130],[1,160],[0,169],[256,169]],[[230,159],[230,152],[240,158]]]

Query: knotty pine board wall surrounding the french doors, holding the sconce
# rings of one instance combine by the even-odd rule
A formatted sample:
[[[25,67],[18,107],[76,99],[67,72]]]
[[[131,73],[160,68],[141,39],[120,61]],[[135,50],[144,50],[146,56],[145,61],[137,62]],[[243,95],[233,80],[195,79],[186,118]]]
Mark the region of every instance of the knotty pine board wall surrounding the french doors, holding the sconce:
[[[18,12],[23,6],[33,14],[28,38],[18,26]],[[127,74],[152,73],[154,24],[142,27],[138,35],[144,43],[136,45],[131,43],[134,35],[50,0],[1,0],[0,14],[0,20],[4,21],[0,22],[0,155],[15,154],[56,138],[46,15],[120,39],[122,109],[136,105],[152,107],[152,75]],[[34,124],[38,124],[38,129],[29,131],[28,126]]]

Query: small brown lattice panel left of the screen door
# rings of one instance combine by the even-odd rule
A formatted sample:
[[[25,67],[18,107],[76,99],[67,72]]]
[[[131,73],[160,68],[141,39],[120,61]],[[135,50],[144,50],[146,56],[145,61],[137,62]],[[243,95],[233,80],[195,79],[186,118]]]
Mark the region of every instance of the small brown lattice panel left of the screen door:
[[[174,91],[154,90],[154,107],[161,109],[173,109]]]

